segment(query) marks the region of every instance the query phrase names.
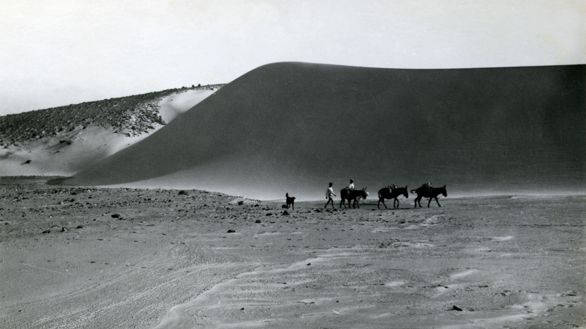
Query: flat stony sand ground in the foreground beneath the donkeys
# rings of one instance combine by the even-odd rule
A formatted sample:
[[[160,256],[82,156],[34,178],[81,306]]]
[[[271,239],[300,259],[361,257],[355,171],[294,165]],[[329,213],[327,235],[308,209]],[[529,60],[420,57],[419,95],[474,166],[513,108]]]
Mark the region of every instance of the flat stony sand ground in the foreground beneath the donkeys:
[[[584,196],[298,202],[286,215],[281,202],[45,180],[0,180],[2,328],[586,323]]]

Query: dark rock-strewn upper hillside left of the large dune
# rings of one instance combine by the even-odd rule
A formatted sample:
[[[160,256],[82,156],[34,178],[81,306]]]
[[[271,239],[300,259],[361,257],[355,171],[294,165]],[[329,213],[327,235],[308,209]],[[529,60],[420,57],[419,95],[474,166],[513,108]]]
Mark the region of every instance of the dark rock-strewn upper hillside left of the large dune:
[[[166,124],[159,113],[159,103],[163,98],[189,90],[213,91],[221,87],[222,84],[192,85],[0,116],[0,145],[26,145],[89,126],[111,128],[112,132],[128,137],[138,136]]]

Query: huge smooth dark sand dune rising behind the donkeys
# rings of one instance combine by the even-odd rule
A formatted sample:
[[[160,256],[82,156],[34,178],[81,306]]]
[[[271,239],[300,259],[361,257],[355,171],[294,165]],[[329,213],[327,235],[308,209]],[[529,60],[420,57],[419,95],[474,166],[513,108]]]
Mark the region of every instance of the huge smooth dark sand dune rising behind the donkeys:
[[[339,190],[350,177],[371,196],[425,181],[452,191],[581,191],[584,73],[268,64],[67,183],[259,198],[324,198],[329,181]]]

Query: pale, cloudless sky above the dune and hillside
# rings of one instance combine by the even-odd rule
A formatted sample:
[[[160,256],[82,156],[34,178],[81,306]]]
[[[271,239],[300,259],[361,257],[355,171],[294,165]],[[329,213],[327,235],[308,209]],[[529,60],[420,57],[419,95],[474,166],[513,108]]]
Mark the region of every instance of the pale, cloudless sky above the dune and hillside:
[[[584,0],[2,0],[0,115],[197,84],[277,61],[586,63]]]

